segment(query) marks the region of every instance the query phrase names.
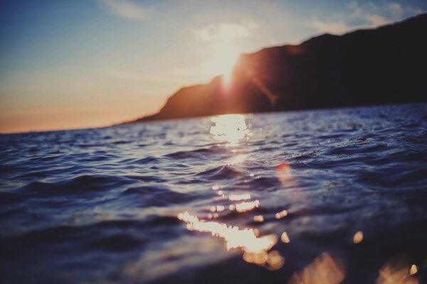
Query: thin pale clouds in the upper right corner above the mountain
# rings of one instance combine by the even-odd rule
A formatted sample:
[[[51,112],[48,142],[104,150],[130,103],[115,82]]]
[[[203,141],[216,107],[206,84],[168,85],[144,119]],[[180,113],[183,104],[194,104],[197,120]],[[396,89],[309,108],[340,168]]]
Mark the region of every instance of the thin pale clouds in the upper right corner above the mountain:
[[[381,5],[373,3],[360,6],[357,1],[350,2],[345,11],[338,13],[327,21],[315,19],[309,26],[320,33],[341,34],[357,28],[376,28],[386,23],[401,21],[409,16],[421,13],[421,9],[402,6],[399,3],[384,2]]]

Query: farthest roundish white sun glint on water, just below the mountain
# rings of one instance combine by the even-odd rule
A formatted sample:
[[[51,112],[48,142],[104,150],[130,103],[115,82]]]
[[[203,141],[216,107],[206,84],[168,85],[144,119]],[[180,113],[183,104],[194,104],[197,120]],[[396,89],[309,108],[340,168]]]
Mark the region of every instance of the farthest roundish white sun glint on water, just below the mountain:
[[[233,146],[236,146],[243,138],[251,134],[243,114],[214,116],[211,121],[215,124],[211,126],[210,131],[214,139],[228,142]]]

